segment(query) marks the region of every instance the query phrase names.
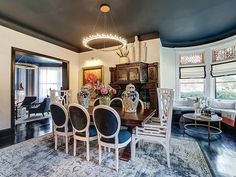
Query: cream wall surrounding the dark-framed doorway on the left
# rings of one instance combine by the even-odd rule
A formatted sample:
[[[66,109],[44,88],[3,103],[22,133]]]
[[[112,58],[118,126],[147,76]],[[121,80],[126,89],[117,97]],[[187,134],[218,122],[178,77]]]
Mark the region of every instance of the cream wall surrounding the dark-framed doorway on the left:
[[[62,58],[70,62],[70,89],[73,100],[78,91],[78,53],[0,26],[0,130],[11,124],[11,47]]]

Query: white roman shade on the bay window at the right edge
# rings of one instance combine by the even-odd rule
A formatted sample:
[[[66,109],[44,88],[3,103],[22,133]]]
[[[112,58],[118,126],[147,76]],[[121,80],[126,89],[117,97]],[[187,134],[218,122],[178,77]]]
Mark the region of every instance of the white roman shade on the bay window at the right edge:
[[[220,77],[236,74],[236,60],[211,65],[212,77]]]

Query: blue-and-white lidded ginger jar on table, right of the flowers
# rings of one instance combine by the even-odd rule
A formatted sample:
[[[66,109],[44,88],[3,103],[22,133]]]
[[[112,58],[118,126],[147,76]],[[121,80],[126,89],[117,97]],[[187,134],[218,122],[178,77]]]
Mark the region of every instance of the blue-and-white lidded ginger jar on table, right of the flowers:
[[[139,93],[135,90],[133,84],[128,84],[122,93],[122,100],[125,112],[136,112],[139,101]]]

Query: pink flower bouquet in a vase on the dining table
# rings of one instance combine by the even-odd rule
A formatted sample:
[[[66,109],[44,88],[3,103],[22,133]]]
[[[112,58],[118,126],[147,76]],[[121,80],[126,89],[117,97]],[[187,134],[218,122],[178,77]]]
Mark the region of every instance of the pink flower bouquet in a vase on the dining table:
[[[97,97],[99,97],[99,103],[101,105],[109,105],[111,96],[116,94],[116,90],[110,85],[95,85],[94,91],[97,94]]]

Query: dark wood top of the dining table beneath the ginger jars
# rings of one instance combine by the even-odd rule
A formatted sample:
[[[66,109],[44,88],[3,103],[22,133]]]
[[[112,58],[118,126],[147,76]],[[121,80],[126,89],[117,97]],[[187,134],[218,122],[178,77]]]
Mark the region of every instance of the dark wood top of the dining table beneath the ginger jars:
[[[93,106],[90,106],[88,109],[90,116],[93,116],[93,108]],[[152,117],[156,112],[156,109],[145,109],[143,112],[129,113],[125,112],[121,107],[112,108],[117,111],[121,119],[121,124],[125,126],[139,126],[145,119]]]

